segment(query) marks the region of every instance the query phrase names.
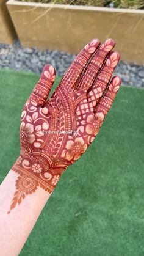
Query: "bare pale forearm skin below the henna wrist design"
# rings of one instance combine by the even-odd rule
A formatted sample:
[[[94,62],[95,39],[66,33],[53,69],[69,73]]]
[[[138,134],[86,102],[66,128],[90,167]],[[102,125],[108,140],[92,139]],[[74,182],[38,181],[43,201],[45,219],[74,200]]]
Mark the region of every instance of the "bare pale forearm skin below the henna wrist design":
[[[10,170],[0,186],[0,249],[2,256],[18,255],[31,233],[50,194],[37,188],[10,211],[18,174]]]

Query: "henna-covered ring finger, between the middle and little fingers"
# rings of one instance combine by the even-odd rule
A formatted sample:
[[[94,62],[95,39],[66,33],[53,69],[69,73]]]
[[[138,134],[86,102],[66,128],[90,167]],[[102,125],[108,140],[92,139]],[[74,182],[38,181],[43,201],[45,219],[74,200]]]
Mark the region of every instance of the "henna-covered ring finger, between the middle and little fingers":
[[[106,63],[104,64],[87,95],[88,102],[92,103],[93,107],[95,107],[101,97],[103,97],[104,91],[106,90],[107,86],[109,86],[113,71],[115,70],[119,60],[120,54],[117,51],[112,51],[109,53]]]

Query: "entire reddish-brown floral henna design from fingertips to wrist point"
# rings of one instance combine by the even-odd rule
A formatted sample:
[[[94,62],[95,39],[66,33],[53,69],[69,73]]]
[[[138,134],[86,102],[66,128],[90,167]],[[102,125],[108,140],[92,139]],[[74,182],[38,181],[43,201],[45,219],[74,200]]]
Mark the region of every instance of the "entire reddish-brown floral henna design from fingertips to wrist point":
[[[99,45],[94,39],[82,49],[48,101],[55,70],[43,69],[21,114],[21,152],[12,167],[19,176],[10,210],[38,186],[51,193],[98,134],[121,84],[118,76],[110,82],[120,59],[111,51],[115,43]]]

